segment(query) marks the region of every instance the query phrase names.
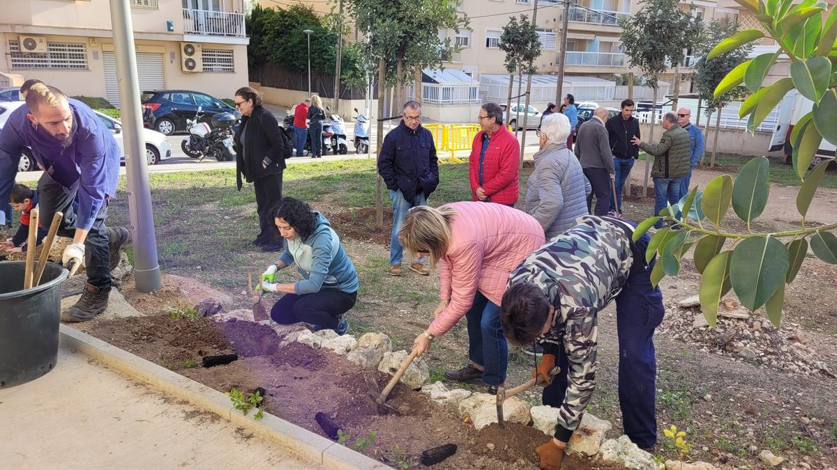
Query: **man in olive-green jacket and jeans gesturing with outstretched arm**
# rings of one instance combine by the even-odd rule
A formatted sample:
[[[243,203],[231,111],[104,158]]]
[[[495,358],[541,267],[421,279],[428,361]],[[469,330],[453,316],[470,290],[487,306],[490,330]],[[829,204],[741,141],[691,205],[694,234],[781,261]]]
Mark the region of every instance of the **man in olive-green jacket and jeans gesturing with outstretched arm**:
[[[654,215],[668,204],[674,206],[680,201],[680,178],[689,173],[689,132],[677,124],[677,114],[665,113],[663,116],[665,132],[660,143],[654,146],[634,137],[635,145],[650,156],[655,156],[651,177],[654,178]],[[676,214],[671,214],[676,216]],[[662,227],[658,223],[657,227]]]

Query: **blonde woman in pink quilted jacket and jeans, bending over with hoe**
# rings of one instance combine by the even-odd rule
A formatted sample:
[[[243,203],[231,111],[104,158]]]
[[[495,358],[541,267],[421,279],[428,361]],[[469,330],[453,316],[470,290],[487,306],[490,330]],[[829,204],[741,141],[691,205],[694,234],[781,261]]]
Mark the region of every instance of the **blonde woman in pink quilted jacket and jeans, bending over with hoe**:
[[[543,227],[512,207],[454,202],[413,207],[398,238],[413,253],[429,254],[434,266],[441,263],[435,319],[413,342],[413,350],[424,354],[434,337],[467,317],[470,364],[444,375],[454,381],[481,381],[496,392],[506,381],[508,365],[500,301],[511,271],[543,245]]]

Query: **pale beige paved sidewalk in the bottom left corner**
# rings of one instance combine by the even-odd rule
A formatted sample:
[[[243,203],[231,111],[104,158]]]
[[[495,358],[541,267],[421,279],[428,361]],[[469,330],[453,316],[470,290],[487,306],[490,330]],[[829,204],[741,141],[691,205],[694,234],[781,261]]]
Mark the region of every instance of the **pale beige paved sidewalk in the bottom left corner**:
[[[0,390],[0,467],[321,468],[181,403],[62,345],[54,370]]]

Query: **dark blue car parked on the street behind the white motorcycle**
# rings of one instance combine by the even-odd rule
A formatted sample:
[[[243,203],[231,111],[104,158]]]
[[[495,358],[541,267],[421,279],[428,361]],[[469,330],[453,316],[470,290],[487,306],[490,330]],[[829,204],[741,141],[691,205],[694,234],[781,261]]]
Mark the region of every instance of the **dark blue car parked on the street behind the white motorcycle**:
[[[141,95],[143,123],[157,132],[172,135],[186,132],[186,120],[194,119],[198,106],[203,107],[201,120],[212,125],[212,116],[230,113],[236,120],[241,113],[213,96],[188,89],[158,89],[143,91]]]

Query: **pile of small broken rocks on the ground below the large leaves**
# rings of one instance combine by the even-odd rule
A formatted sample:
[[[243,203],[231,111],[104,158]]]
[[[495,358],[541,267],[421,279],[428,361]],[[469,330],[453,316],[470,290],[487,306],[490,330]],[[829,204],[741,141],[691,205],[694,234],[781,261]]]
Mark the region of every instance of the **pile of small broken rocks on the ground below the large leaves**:
[[[758,312],[750,312],[733,299],[724,299],[718,309],[715,329],[701,313],[698,296],[670,306],[659,328],[675,339],[701,345],[703,351],[730,355],[763,367],[793,374],[831,374],[808,345],[798,324],[782,323],[776,328]]]

